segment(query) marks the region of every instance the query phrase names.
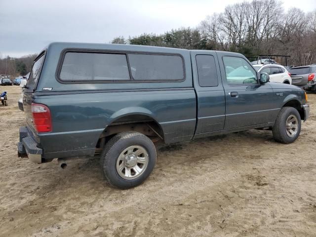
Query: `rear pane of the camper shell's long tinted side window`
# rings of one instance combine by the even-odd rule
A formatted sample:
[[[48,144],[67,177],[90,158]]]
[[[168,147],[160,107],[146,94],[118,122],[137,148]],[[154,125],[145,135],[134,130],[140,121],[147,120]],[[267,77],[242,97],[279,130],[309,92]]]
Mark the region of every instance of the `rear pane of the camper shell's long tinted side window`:
[[[59,77],[65,81],[128,80],[126,55],[69,52]]]

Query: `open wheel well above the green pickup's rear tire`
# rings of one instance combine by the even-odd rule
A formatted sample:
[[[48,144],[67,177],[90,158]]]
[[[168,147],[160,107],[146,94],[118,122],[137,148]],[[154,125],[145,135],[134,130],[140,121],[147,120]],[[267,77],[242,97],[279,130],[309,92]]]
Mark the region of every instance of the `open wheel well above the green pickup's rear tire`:
[[[140,132],[154,143],[164,141],[162,128],[155,119],[145,115],[129,115],[118,118],[103,130],[96,145],[96,153],[101,153],[104,145],[116,134],[127,131]]]

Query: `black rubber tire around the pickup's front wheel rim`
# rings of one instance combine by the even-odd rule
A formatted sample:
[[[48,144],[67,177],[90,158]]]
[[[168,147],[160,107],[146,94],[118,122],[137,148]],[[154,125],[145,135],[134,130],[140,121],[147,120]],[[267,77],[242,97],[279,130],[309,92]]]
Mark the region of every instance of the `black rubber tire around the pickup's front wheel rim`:
[[[292,137],[286,132],[286,120],[291,115],[297,118],[297,132]],[[293,107],[283,107],[276,117],[275,125],[273,126],[273,137],[277,142],[289,144],[294,142],[301,132],[301,116]]]

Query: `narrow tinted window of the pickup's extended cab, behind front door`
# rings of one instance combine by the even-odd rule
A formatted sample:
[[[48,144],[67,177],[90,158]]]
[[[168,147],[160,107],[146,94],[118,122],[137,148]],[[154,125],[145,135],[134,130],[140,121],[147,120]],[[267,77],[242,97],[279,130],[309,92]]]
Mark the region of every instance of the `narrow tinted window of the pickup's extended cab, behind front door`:
[[[197,55],[197,74],[200,86],[217,86],[217,71],[212,55]]]

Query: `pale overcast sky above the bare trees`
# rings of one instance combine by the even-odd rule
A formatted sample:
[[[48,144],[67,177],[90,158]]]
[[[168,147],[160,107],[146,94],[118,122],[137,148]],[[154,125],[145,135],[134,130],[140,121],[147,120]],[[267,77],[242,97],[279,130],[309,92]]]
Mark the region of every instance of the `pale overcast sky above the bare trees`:
[[[195,27],[238,0],[0,0],[0,56],[38,53],[53,41],[110,42],[117,36]],[[284,0],[316,8],[316,0]]]

